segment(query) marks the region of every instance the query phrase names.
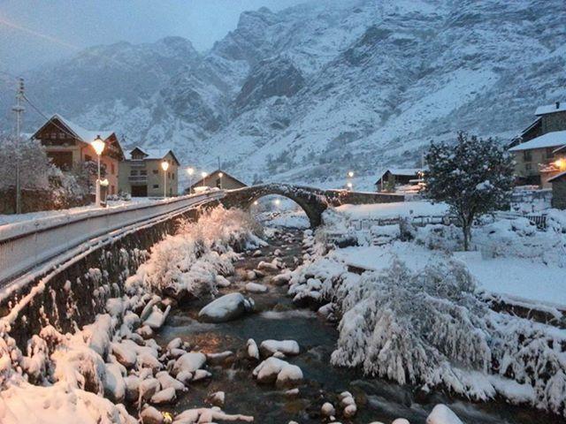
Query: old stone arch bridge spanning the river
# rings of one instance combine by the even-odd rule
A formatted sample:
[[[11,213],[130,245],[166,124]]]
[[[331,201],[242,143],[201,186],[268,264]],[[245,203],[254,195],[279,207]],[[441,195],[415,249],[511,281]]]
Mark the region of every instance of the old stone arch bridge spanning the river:
[[[263,184],[226,191],[221,200],[226,208],[249,208],[251,204],[268,195],[279,194],[297,203],[307,214],[311,227],[322,223],[322,213],[331,206],[344,204],[363,205],[404,201],[402,194],[349,192],[346,190],[323,190],[291,184]]]

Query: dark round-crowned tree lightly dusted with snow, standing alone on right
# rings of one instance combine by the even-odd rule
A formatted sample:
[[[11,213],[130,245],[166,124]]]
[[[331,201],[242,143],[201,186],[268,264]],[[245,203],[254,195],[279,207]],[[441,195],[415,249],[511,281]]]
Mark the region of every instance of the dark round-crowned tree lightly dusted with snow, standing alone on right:
[[[432,143],[426,156],[425,195],[446,202],[463,230],[468,250],[474,218],[505,206],[513,186],[513,161],[492,139],[458,133],[455,144]]]

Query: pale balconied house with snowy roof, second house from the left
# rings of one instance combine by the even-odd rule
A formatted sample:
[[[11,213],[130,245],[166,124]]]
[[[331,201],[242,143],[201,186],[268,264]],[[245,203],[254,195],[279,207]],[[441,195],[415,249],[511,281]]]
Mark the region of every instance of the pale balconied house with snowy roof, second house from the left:
[[[164,171],[161,163],[169,168]],[[165,172],[167,196],[179,194],[179,167],[177,157],[168,148],[134,148],[120,163],[120,191],[133,197],[163,197]]]

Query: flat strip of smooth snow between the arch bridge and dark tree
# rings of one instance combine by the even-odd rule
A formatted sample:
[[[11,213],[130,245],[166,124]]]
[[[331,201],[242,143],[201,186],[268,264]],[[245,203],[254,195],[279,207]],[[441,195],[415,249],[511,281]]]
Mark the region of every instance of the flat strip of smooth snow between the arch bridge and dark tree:
[[[336,208],[350,219],[390,218],[397,216],[444,216],[448,207],[430,201],[401,201],[373,205],[342,205]]]

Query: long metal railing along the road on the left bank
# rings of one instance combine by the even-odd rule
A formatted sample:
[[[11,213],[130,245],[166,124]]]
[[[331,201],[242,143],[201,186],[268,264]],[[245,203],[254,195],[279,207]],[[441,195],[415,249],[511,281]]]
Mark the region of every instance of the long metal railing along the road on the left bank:
[[[80,246],[89,239],[144,223],[157,216],[179,213],[224,197],[224,192],[180,196],[114,208],[53,214],[30,221],[0,225],[0,287],[37,265]]]

